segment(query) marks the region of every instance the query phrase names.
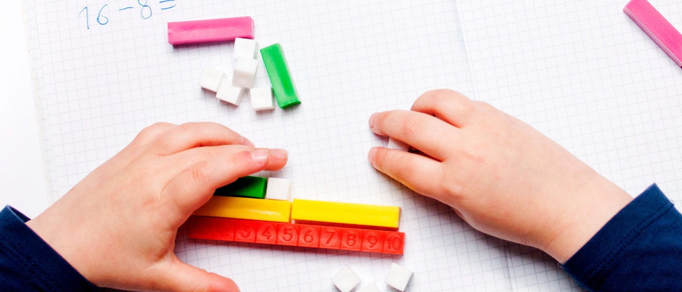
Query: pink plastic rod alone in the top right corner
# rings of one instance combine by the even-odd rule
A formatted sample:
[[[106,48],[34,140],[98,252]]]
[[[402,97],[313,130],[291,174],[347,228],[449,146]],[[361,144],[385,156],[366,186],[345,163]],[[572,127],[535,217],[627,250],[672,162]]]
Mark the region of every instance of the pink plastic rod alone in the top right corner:
[[[647,0],[632,0],[623,12],[682,67],[682,35]]]

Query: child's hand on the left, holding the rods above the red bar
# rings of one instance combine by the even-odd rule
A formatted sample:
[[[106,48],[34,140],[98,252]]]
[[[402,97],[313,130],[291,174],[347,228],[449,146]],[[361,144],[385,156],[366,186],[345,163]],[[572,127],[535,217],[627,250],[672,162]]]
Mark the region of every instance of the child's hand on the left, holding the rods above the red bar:
[[[175,233],[215,189],[286,159],[216,123],[157,123],[27,224],[100,287],[239,291],[177,259]]]

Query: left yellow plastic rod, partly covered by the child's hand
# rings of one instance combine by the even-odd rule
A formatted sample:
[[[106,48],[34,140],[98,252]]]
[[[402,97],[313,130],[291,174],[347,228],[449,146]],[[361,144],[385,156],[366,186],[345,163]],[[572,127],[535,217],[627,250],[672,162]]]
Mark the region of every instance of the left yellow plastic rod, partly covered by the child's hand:
[[[197,216],[290,222],[291,202],[214,195],[204,206],[196,209],[193,214]]]

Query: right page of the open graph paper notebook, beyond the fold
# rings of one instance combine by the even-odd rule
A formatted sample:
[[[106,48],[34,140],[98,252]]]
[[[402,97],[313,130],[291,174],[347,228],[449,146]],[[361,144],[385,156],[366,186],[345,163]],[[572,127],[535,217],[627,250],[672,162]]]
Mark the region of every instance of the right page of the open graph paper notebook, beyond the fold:
[[[682,3],[649,1],[682,31]],[[626,3],[457,1],[475,97],[630,195],[656,182],[680,203],[682,69],[623,13]],[[580,289],[541,251],[506,250],[514,291]]]

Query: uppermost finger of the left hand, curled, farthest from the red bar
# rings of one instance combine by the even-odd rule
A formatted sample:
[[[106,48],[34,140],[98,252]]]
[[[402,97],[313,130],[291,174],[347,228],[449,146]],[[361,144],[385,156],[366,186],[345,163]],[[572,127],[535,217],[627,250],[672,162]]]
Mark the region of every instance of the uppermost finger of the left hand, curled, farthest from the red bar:
[[[201,146],[253,146],[253,143],[246,138],[218,123],[182,124],[158,137],[155,143],[155,152],[160,155],[172,155]]]

